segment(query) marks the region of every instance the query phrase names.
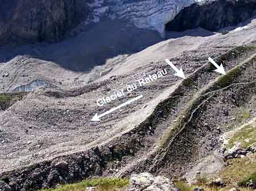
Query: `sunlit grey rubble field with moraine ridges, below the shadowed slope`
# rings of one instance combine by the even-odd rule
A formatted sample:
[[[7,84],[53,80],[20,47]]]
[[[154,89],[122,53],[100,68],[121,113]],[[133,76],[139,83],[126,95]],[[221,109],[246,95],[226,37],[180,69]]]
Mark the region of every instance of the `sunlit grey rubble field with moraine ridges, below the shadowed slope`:
[[[252,20],[246,29],[226,35],[168,39],[113,62],[108,74],[86,85],[79,82],[85,74],[48,67],[51,62],[40,58],[10,60],[15,71],[1,79],[10,90],[18,85],[15,74],[28,66],[35,71],[27,82],[40,79],[47,86],[23,94],[8,108],[1,105],[2,180],[15,190],[34,190],[92,176],[183,175],[221,147],[225,131],[255,116],[255,37]],[[209,56],[223,63],[226,76],[214,72]],[[166,58],[182,66],[187,79],[175,77]],[[7,70],[6,63],[0,69]],[[97,105],[100,97],[163,69],[164,77]],[[90,121],[138,95],[143,98],[101,122]],[[236,117],[241,108],[250,116]]]

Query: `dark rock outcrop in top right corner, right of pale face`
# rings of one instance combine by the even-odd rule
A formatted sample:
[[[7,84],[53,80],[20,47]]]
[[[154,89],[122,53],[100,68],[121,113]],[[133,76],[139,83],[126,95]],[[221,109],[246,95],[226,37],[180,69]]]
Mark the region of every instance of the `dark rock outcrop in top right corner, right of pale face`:
[[[255,0],[219,0],[194,3],[184,8],[166,24],[167,31],[201,27],[209,31],[236,26],[256,14]]]

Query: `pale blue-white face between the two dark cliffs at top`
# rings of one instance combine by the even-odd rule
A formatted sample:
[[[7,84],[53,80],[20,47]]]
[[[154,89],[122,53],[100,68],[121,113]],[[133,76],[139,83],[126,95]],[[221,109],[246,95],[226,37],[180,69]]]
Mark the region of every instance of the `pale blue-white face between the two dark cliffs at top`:
[[[138,28],[147,28],[164,35],[164,26],[174,19],[181,9],[200,2],[200,0],[98,0],[90,4],[93,9],[93,19],[97,22],[101,16],[113,19],[131,20]]]

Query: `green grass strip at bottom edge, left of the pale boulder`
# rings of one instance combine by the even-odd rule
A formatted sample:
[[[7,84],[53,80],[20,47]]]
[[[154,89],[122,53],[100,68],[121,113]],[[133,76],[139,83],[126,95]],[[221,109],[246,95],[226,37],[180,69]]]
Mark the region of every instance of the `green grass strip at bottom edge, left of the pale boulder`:
[[[58,188],[42,189],[38,191],[85,191],[87,187],[96,187],[97,191],[113,191],[117,188],[123,188],[128,185],[129,179],[117,179],[117,178],[106,178],[106,179],[92,179],[84,180],[75,184],[66,184],[59,186]]]

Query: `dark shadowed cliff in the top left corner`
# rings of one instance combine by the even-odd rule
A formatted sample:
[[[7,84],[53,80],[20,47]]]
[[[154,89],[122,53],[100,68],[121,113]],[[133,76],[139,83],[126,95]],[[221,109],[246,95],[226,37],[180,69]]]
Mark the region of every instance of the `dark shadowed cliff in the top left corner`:
[[[0,45],[10,41],[59,41],[88,18],[88,2],[90,0],[3,0],[0,7]]]

